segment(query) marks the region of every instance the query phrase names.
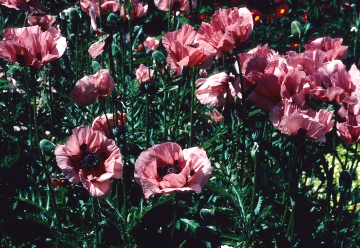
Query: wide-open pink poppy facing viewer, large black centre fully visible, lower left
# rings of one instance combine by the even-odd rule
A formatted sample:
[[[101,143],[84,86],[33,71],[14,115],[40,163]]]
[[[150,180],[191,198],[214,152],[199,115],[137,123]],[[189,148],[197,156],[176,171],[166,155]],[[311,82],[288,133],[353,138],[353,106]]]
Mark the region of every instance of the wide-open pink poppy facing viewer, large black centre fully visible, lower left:
[[[55,155],[70,183],[81,181],[94,198],[109,196],[110,179],[119,179],[122,175],[121,153],[115,141],[88,126],[73,129],[65,145],[57,145]]]

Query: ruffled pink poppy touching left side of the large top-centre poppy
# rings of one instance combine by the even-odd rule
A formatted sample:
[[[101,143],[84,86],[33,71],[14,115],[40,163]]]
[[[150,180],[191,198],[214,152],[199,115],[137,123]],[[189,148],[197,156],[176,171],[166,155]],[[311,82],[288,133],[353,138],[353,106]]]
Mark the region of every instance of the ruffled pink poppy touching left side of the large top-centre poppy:
[[[204,69],[211,66],[213,58],[205,55],[196,40],[197,33],[194,27],[188,24],[183,24],[181,29],[163,35],[162,42],[169,53],[166,62],[171,69],[196,65]]]

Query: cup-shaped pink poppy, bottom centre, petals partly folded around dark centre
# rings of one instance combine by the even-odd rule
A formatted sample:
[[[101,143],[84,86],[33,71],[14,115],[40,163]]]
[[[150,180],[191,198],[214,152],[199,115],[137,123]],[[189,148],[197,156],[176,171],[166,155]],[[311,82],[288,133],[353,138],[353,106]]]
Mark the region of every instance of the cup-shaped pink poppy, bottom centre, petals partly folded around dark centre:
[[[211,164],[204,149],[182,150],[176,143],[167,142],[141,152],[135,162],[134,177],[145,198],[149,198],[154,193],[200,193],[210,174]]]

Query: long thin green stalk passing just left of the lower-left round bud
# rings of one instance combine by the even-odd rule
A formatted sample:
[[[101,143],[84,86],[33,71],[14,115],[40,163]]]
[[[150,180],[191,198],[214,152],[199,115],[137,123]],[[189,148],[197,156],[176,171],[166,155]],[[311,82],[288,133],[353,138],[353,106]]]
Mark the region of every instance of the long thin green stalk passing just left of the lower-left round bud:
[[[51,203],[52,203],[52,206],[53,206],[53,210],[55,212],[55,221],[57,223],[59,232],[62,232],[61,224],[59,222],[58,206],[56,204],[55,194],[54,194],[54,192],[52,190],[52,187],[51,187],[50,174],[48,172],[47,166],[45,165],[45,159],[44,159],[43,153],[42,153],[41,148],[40,148],[40,143],[39,143],[39,127],[38,127],[38,116],[37,116],[37,97],[36,97],[35,88],[33,88],[33,113],[34,113],[35,141],[37,143],[40,162],[41,162],[41,166],[43,167],[43,170],[44,170],[44,173],[45,173],[47,186],[49,187]]]

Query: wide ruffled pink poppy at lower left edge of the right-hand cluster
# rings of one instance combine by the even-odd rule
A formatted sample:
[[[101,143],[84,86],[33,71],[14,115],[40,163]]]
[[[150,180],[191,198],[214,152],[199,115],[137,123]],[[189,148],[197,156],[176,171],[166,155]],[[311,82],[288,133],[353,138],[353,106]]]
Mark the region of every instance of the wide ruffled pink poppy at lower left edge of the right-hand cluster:
[[[300,110],[290,101],[283,100],[271,111],[270,120],[283,134],[325,142],[325,134],[334,126],[333,114],[334,111],[325,109],[319,112]]]

